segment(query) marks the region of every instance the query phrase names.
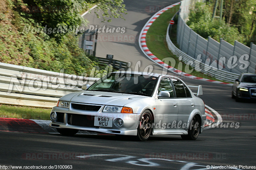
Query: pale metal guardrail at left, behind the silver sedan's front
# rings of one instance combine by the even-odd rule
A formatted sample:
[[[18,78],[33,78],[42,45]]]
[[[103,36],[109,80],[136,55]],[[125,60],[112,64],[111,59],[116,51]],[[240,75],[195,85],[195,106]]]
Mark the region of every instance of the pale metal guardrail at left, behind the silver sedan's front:
[[[51,108],[61,96],[98,79],[0,63],[0,103]]]

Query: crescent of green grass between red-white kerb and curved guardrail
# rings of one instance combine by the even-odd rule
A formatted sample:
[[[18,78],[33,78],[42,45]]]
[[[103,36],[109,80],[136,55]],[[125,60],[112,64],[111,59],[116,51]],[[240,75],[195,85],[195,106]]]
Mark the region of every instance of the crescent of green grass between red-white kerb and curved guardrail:
[[[162,13],[149,27],[148,33],[146,36],[146,43],[148,46],[148,49],[160,60],[166,57],[171,57],[175,60],[175,69],[178,69],[179,59],[178,56],[172,54],[172,52],[169,50],[166,42],[166,30],[169,25],[169,21],[172,19],[173,15],[179,10],[180,5],[174,6],[170,8],[169,10]],[[176,47],[179,48],[177,44],[176,34],[177,33],[177,20],[174,25],[172,25],[172,32],[170,34],[171,40],[174,43]],[[185,66],[187,63],[182,62],[182,71],[185,71]],[[191,70],[192,67],[189,67],[189,70]],[[181,70],[181,69],[178,69]],[[200,77],[200,78],[207,78],[210,80],[216,80],[216,81],[222,81],[218,80],[216,78],[213,78],[209,75],[206,75],[202,72],[196,72],[195,69],[191,73],[193,76]],[[223,82],[223,81],[222,81]],[[224,81],[225,82],[225,81]],[[229,82],[227,82],[229,83]]]

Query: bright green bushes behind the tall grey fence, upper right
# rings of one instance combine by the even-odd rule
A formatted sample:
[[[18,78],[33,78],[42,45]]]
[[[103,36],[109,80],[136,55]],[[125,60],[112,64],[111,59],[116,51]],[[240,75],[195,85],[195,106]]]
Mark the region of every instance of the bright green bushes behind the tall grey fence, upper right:
[[[212,12],[208,5],[198,2],[194,8],[190,9],[188,26],[192,28],[196,33],[204,37],[212,37],[216,41],[220,41],[223,38],[230,44],[234,44],[234,41],[243,42],[243,35],[241,35],[236,27],[228,26],[225,21],[220,19],[212,20]]]

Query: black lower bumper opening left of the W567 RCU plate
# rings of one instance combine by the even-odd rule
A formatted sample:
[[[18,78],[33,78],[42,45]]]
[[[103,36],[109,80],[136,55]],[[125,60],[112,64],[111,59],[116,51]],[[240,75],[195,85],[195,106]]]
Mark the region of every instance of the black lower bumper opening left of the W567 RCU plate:
[[[95,128],[97,126],[94,126],[94,117],[95,116],[68,113],[68,124]]]

